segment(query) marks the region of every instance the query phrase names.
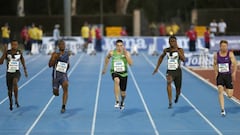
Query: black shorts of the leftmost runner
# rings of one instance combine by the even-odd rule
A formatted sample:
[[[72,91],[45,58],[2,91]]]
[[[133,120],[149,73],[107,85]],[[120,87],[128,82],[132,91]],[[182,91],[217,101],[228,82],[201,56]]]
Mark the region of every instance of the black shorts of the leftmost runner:
[[[13,89],[13,79],[16,78],[19,81],[20,77],[21,77],[21,73],[20,73],[19,70],[16,71],[15,73],[7,72],[6,82],[7,82],[8,90],[12,90]]]

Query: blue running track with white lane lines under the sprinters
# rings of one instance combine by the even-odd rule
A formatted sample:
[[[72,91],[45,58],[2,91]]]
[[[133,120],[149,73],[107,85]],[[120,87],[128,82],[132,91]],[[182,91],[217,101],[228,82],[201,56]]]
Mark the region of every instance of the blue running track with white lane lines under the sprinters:
[[[1,135],[239,135],[240,106],[226,97],[221,117],[215,87],[183,68],[182,94],[168,109],[166,61],[152,75],[158,57],[142,52],[132,56],[125,109],[114,108],[113,81],[101,74],[105,53],[71,56],[69,100],[60,113],[61,95],[52,95],[47,55],[25,56],[28,78],[19,81],[20,108],[9,110],[0,67]],[[109,64],[110,65],[110,64]],[[173,86],[173,99],[175,89]]]

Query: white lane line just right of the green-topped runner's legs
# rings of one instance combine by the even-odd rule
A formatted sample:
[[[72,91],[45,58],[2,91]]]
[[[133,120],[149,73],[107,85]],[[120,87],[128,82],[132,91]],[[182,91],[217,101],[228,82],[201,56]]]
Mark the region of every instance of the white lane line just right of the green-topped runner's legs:
[[[141,92],[141,90],[140,90],[140,88],[139,88],[139,86],[138,86],[138,84],[137,84],[137,81],[136,81],[136,79],[135,79],[135,77],[134,77],[134,75],[133,75],[133,72],[132,72],[132,70],[131,70],[131,68],[129,67],[129,73],[131,74],[131,76],[132,76],[132,78],[133,78],[133,82],[134,82],[134,84],[135,84],[135,86],[136,86],[136,88],[137,88],[137,92],[138,92],[138,94],[139,94],[139,96],[140,96],[140,98],[141,98],[141,100],[142,100],[142,103],[143,103],[143,106],[144,106],[144,108],[145,108],[145,110],[146,110],[146,112],[147,112],[147,115],[148,115],[148,118],[149,118],[149,120],[150,120],[150,122],[151,122],[151,124],[152,124],[152,127],[153,127],[153,129],[154,129],[154,132],[155,132],[155,135],[159,135],[159,132],[158,132],[158,130],[157,130],[157,127],[156,127],[156,125],[155,125],[155,122],[154,122],[154,120],[153,120],[153,118],[152,118],[152,115],[151,115],[151,113],[150,113],[150,111],[149,111],[149,109],[148,109],[148,106],[147,106],[147,104],[146,104],[146,102],[145,102],[145,100],[144,100],[144,98],[143,98],[143,95],[142,95],[142,92]]]

